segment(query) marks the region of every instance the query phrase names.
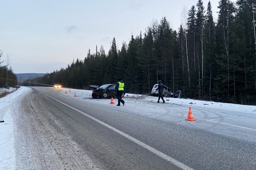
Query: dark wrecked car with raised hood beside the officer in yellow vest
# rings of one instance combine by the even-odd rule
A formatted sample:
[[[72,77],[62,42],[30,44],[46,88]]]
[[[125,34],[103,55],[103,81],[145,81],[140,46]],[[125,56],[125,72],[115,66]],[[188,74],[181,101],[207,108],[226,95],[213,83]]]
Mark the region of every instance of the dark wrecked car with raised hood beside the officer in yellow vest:
[[[90,87],[95,89],[91,94],[93,98],[106,99],[106,98],[111,98],[116,96],[116,93],[115,93],[116,84],[104,84],[100,87],[99,86],[90,86]],[[123,92],[122,97],[124,97],[124,95],[125,93]]]

